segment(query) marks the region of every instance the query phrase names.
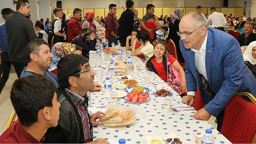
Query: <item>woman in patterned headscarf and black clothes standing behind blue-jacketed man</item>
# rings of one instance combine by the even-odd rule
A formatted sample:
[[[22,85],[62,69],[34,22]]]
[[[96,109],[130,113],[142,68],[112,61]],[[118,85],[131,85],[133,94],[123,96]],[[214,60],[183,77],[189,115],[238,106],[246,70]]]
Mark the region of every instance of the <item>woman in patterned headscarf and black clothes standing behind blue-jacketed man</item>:
[[[180,23],[180,19],[183,16],[183,12],[184,10],[180,8],[174,9],[172,11],[171,21],[169,24],[169,34],[167,37],[167,40],[171,39],[175,43],[177,54],[178,54],[178,61],[180,62],[185,62],[179,47],[180,36],[177,34],[177,32],[179,31],[179,23]]]

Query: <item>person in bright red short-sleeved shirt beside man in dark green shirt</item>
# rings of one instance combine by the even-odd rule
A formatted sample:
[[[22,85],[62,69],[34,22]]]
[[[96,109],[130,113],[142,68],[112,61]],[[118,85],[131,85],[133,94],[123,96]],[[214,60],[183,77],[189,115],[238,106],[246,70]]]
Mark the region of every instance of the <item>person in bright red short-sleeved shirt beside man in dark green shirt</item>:
[[[145,31],[147,34],[149,34],[150,39],[154,39],[155,30],[161,29],[161,25],[160,25],[160,23],[158,22],[158,18],[155,18],[155,17],[156,17],[156,16],[155,16],[154,14],[150,15],[150,16],[149,16],[149,20],[144,23],[145,26],[146,26],[148,29],[152,29],[152,30],[153,30],[153,33],[152,33],[152,34],[149,34],[149,32],[148,32],[147,30],[144,30],[144,29],[141,27],[141,30],[143,30],[143,31]]]

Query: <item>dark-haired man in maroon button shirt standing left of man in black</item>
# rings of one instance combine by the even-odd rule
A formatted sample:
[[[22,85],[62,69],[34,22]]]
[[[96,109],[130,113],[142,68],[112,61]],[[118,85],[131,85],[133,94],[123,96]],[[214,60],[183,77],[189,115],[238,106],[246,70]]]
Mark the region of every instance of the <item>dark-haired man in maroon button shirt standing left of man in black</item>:
[[[108,47],[111,47],[111,43],[117,44],[118,41],[118,29],[116,26],[115,18],[113,15],[116,14],[116,4],[110,4],[108,6],[109,13],[105,19],[105,36],[108,40]]]

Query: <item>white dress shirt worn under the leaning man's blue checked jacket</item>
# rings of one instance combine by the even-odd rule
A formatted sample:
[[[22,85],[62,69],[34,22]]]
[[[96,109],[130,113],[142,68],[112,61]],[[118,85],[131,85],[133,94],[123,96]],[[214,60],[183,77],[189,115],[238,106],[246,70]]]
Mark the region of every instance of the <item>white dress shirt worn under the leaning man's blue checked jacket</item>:
[[[208,77],[206,74],[206,67],[205,67],[205,54],[206,54],[206,43],[207,43],[207,36],[208,32],[206,32],[206,38],[204,40],[204,43],[202,44],[199,51],[197,49],[191,48],[191,51],[195,52],[195,64],[196,64],[196,70],[204,76],[204,78],[208,81]],[[189,91],[188,95],[195,96],[194,91]]]

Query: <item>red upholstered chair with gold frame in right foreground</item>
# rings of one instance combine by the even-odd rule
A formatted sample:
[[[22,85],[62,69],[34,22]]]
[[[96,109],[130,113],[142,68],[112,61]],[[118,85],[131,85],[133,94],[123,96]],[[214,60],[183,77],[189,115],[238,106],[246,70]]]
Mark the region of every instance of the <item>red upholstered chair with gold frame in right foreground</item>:
[[[256,143],[256,98],[253,95],[238,92],[231,99],[225,108],[221,133],[231,143]]]

